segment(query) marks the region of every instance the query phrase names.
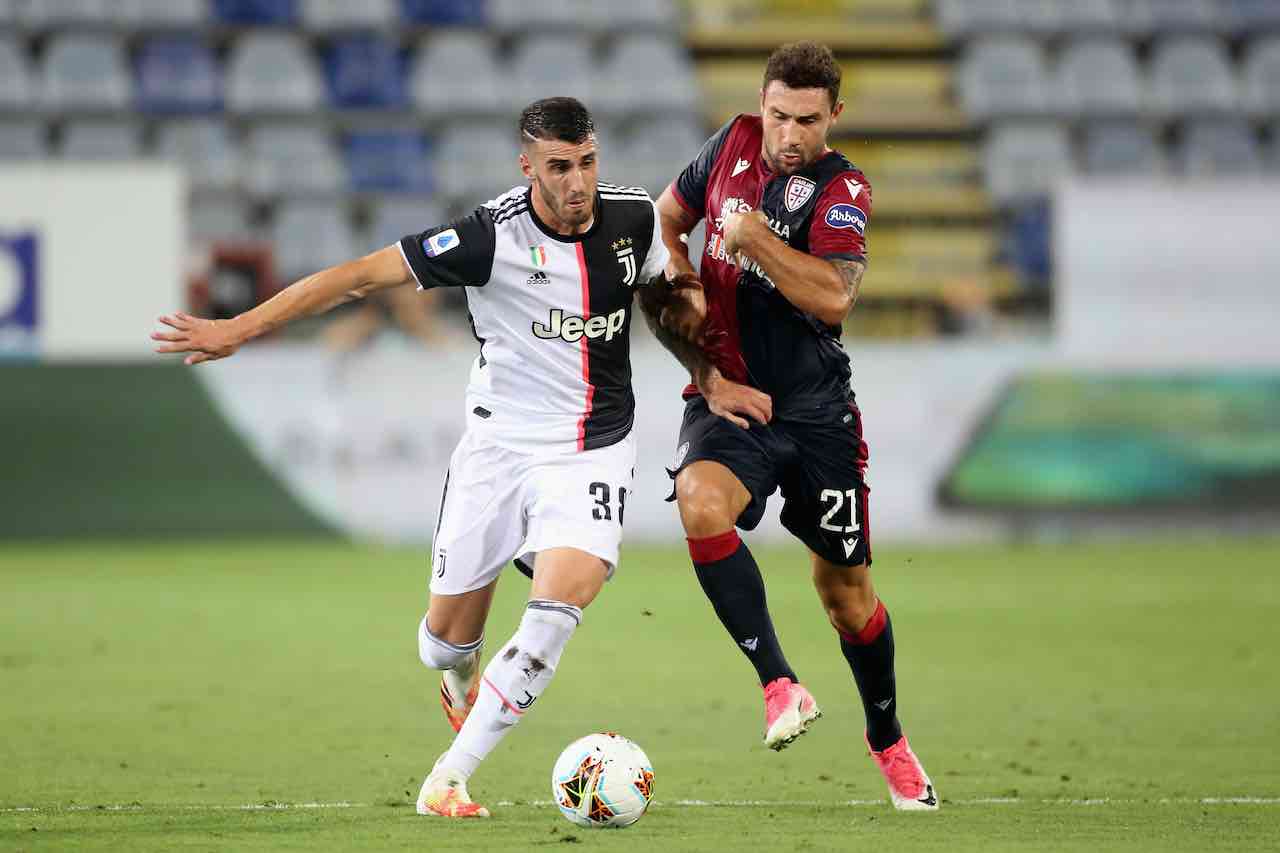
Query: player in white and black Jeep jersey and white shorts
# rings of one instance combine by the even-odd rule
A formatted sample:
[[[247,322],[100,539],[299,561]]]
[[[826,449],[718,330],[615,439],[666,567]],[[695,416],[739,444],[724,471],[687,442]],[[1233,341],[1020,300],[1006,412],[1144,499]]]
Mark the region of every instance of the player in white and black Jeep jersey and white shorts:
[[[420,815],[488,817],[467,779],[547,689],[618,562],[636,460],[632,295],[660,279],[668,260],[649,195],[598,182],[582,104],[531,104],[520,136],[527,183],[462,219],[303,278],[234,319],[174,314],[160,318],[172,330],[152,334],[160,352],[191,352],[187,364],[200,364],[381,289],[465,288],[480,355],[417,629],[422,662],[444,671],[442,703],[457,736],[422,783]],[[430,393],[429,378],[420,393]],[[532,578],[529,603],[481,670],[489,605],[512,560]]]

